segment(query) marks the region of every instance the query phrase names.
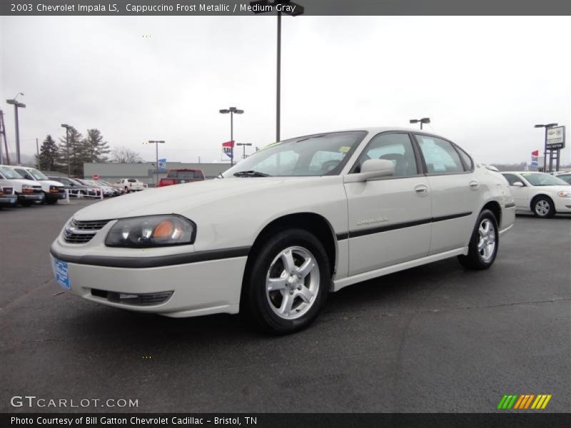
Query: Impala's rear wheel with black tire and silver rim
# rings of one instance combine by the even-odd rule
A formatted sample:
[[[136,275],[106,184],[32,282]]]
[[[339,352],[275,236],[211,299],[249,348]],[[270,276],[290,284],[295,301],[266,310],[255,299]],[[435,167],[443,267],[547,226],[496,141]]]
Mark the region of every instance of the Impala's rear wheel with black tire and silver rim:
[[[468,255],[459,255],[458,261],[468,269],[489,269],[494,263],[499,243],[495,215],[490,210],[482,210],[470,238]]]

